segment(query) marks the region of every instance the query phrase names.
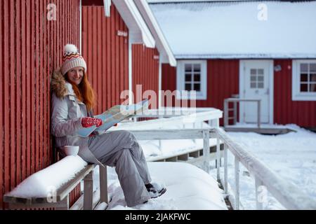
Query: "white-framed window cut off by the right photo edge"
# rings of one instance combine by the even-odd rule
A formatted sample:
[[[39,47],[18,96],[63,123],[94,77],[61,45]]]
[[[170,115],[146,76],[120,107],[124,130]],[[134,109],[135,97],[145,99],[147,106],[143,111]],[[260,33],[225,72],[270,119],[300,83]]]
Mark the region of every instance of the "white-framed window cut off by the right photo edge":
[[[316,60],[294,60],[292,100],[316,101]]]

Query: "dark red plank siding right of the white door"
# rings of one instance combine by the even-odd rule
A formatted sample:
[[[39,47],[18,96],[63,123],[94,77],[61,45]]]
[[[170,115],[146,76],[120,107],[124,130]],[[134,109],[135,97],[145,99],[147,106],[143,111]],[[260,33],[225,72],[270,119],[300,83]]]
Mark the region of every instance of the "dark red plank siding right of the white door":
[[[274,74],[274,123],[294,123],[301,127],[316,127],[316,102],[292,101],[292,61],[277,59],[282,67]]]

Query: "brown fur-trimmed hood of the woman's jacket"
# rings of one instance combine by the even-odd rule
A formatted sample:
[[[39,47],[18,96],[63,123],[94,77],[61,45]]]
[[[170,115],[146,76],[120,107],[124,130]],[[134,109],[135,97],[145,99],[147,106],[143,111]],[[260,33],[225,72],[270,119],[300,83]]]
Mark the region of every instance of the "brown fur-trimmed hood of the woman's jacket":
[[[54,71],[53,76],[51,77],[51,91],[55,92],[56,97],[58,98],[63,98],[68,94],[74,95],[72,85],[65,80],[59,69]]]

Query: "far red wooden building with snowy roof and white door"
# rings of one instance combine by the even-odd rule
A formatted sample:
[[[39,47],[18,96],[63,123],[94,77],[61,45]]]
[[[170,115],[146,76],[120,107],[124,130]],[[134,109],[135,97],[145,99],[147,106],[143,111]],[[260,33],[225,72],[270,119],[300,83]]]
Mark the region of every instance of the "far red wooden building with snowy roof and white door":
[[[261,99],[262,123],[316,127],[315,1],[150,0],[150,7],[178,62],[163,65],[163,90],[196,90],[197,106],[221,110],[233,95]],[[241,104],[239,122],[256,123],[256,113],[254,103]]]

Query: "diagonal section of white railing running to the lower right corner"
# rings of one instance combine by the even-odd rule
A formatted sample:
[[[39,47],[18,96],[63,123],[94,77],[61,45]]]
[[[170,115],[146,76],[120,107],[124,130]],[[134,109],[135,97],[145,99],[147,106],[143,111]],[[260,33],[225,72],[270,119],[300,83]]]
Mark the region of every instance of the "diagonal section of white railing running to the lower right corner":
[[[290,183],[282,179],[273,172],[263,162],[258,160],[254,155],[245,151],[242,146],[232,141],[228,134],[220,128],[214,128],[213,134],[218,143],[223,141],[224,144],[224,180],[220,178],[220,167],[217,170],[217,179],[223,182],[225,193],[228,194],[228,150],[235,156],[235,203],[234,209],[239,209],[239,163],[241,162],[246,169],[254,174],[256,186],[256,208],[263,209],[263,202],[258,200],[258,188],[265,186],[275,199],[277,199],[286,209],[316,209],[316,201]],[[220,151],[218,147],[217,152]]]

